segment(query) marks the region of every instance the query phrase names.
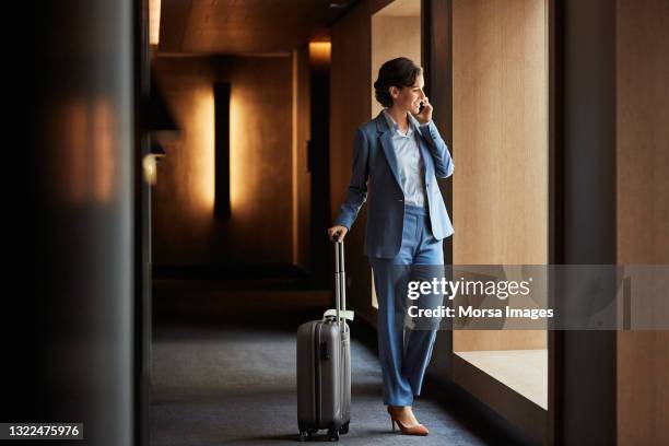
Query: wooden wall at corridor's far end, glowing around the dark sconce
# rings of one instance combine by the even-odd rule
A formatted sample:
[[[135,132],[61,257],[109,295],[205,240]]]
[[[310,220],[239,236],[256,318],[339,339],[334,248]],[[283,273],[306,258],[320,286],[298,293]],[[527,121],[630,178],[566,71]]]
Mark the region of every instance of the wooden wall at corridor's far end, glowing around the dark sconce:
[[[159,57],[155,70],[181,138],[153,189],[154,263],[291,265],[291,58]],[[213,219],[214,80],[232,83],[224,221]]]

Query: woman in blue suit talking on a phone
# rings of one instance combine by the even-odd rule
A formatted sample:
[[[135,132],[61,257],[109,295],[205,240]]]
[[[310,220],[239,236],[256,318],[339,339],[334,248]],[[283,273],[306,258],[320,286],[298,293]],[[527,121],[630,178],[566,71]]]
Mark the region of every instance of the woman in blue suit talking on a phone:
[[[420,395],[436,329],[404,337],[406,281],[397,266],[443,266],[443,239],[453,226],[436,178],[453,175],[454,163],[432,121],[423,70],[408,58],[385,62],[374,83],[385,108],[356,130],[353,172],[330,238],[343,239],[368,198],[364,253],[378,300],[378,349],[384,403],[392,429],[427,435],[411,409]]]

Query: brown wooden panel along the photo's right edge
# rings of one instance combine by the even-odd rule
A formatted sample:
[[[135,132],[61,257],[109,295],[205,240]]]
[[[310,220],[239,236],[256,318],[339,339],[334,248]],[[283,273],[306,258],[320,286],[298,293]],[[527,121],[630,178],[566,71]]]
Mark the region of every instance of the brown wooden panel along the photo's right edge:
[[[669,3],[617,4],[618,262],[669,263]],[[618,444],[669,444],[669,331],[618,332]]]

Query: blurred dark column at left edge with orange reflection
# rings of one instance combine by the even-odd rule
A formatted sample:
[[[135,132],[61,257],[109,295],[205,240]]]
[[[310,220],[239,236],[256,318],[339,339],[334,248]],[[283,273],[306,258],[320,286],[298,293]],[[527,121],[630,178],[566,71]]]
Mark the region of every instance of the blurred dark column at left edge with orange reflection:
[[[132,445],[136,3],[5,7],[0,420]]]

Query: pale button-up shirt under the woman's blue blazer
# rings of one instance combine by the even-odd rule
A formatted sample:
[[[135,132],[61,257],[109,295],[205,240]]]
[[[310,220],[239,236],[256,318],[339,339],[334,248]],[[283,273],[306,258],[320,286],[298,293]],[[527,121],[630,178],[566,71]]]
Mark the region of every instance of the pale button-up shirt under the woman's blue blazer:
[[[404,204],[425,207],[425,187],[423,185],[423,160],[419,149],[418,134],[414,134],[414,126],[418,128],[419,121],[408,114],[409,129],[407,133],[402,133],[399,125],[392,119],[387,109],[384,109],[384,116],[388,122],[388,127],[392,132],[392,146],[395,148],[395,156],[397,157],[397,167],[399,177],[404,192]],[[427,126],[430,122],[420,125]]]

